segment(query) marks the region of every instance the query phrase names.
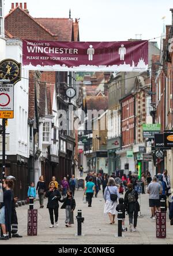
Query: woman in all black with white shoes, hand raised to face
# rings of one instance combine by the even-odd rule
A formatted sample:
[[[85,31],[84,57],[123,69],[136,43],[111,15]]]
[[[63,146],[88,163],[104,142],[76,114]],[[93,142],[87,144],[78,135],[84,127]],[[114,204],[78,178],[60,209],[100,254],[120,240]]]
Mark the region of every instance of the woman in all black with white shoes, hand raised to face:
[[[50,214],[51,225],[50,228],[54,228],[54,215],[55,215],[55,227],[58,227],[58,208],[59,199],[61,199],[61,194],[55,187],[55,183],[50,184],[50,189],[46,192],[46,197],[48,198],[47,208]]]

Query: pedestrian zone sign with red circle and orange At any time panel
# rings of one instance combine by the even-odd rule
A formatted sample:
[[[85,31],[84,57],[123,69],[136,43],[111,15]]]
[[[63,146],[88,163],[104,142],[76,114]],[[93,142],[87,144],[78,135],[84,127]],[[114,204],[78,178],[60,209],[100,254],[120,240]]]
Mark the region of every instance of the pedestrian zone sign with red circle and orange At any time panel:
[[[0,84],[0,118],[14,118],[13,84]]]

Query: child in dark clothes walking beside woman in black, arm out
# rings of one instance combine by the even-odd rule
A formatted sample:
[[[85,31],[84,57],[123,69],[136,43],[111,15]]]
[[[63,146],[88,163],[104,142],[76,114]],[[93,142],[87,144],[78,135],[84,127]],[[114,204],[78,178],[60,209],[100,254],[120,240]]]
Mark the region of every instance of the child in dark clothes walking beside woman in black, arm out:
[[[73,192],[67,191],[67,197],[59,201],[63,203],[61,209],[66,209],[66,227],[72,227],[72,224],[74,224],[73,212],[76,207],[76,202],[73,198]]]

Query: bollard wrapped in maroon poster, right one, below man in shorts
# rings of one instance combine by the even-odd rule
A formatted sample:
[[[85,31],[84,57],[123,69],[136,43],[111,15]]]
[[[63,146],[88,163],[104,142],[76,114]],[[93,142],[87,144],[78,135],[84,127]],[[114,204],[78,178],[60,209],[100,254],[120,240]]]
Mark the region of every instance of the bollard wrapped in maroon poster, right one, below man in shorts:
[[[161,212],[156,212],[156,238],[165,239],[167,237],[165,200],[160,200]]]

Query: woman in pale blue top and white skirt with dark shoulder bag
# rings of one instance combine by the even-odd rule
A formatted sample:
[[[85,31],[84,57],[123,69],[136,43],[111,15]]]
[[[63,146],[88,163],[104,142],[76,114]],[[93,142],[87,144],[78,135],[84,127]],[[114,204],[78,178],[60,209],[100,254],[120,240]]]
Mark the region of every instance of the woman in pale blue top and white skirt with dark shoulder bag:
[[[119,199],[118,187],[116,187],[114,178],[111,177],[104,190],[104,214],[110,217],[110,224],[115,223],[117,199]]]

